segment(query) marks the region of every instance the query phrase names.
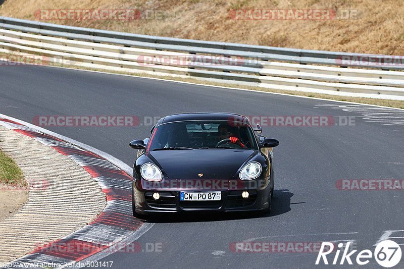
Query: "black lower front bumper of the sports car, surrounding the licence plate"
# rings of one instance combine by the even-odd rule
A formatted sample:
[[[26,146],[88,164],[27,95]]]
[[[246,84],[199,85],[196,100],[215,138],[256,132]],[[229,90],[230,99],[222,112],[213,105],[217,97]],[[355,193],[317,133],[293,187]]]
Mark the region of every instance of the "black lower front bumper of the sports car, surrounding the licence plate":
[[[258,181],[257,181],[258,182]],[[134,203],[137,213],[166,213],[166,212],[188,212],[188,211],[259,211],[268,208],[270,193],[269,178],[260,180],[259,186],[253,189],[238,188],[232,190],[220,190],[222,199],[219,201],[180,201],[180,192],[201,192],[219,190],[201,189],[141,189],[141,184],[134,183]],[[256,185],[257,186],[257,185]],[[159,192],[160,198],[153,198],[154,192]],[[248,191],[248,198],[243,198],[241,193]],[[133,199],[133,197],[132,197]]]

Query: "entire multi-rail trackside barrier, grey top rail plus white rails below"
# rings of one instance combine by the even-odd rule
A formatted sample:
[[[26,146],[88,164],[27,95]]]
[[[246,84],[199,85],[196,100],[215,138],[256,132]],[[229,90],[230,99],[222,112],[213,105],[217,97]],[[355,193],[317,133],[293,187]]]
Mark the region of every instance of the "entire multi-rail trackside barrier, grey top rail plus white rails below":
[[[404,72],[399,71],[404,70],[404,65],[374,62],[389,57],[383,55],[137,35],[6,17],[0,17],[0,51],[43,55],[62,65],[109,71],[404,100]],[[235,58],[237,65],[195,65],[192,61],[184,65],[171,60],[156,64],[145,60],[145,56],[147,59],[219,56]],[[363,57],[371,62],[363,62],[362,66],[345,63],[339,66],[342,57]]]

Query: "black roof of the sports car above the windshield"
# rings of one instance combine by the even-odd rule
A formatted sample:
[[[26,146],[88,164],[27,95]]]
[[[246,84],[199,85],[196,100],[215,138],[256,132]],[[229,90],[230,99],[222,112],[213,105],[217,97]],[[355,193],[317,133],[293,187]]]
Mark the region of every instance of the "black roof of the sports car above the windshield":
[[[250,125],[248,119],[245,116],[224,112],[189,112],[189,113],[173,114],[160,119],[157,125],[169,122],[194,121],[194,120],[217,120],[217,121],[234,120],[237,122]]]

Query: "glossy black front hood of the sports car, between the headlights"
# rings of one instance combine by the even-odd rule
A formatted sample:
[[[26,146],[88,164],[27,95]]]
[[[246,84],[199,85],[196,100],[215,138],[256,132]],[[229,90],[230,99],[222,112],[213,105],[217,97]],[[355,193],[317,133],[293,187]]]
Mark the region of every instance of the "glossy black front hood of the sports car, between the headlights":
[[[258,150],[196,149],[151,151],[170,179],[232,179]],[[204,174],[199,177],[198,174]]]

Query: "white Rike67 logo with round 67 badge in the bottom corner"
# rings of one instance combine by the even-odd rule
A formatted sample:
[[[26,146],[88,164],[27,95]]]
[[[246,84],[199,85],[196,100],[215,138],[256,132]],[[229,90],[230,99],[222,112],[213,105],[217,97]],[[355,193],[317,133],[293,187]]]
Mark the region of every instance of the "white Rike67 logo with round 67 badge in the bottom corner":
[[[356,258],[354,259],[354,254],[358,250],[352,250],[351,252],[348,253],[349,251],[349,244],[350,242],[347,242],[345,245],[345,248],[343,249],[343,253],[341,258],[339,259],[339,253],[341,252],[341,248],[343,247],[342,243],[339,243],[337,246],[337,249],[335,251],[334,258],[332,261],[332,264],[344,264],[346,261],[348,264],[354,264],[352,260],[356,261],[357,264],[359,265],[365,265],[370,262],[372,257],[374,257],[381,266],[389,268],[397,265],[398,262],[401,260],[401,248],[400,246],[391,240],[384,240],[377,244],[374,253],[370,251],[369,249],[364,249],[361,252],[359,252],[356,255]],[[329,261],[327,259],[327,255],[334,252],[334,244],[330,242],[323,242],[321,244],[321,248],[319,251],[319,254],[317,256],[316,260],[316,265],[320,264],[320,261],[324,262],[324,264],[329,264]],[[330,258],[330,257],[329,257]],[[332,258],[332,257],[331,257]],[[339,260],[339,263],[338,263]]]

